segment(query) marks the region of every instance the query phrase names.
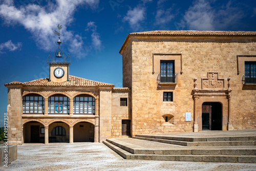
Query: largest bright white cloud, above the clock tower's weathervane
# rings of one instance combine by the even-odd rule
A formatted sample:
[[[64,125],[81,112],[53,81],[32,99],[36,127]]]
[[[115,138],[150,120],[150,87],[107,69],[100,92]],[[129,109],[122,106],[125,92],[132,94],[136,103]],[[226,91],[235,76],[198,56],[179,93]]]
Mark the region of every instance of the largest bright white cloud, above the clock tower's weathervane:
[[[98,7],[98,3],[99,0],[56,0],[56,4],[48,2],[45,6],[39,6],[31,3],[17,8],[13,0],[8,0],[0,5],[0,16],[7,25],[24,26],[33,35],[36,45],[44,50],[53,47],[53,42],[57,39],[54,30],[60,24],[63,26],[61,34],[64,35],[61,37],[64,44],[62,48],[65,45],[70,46],[71,53],[81,55],[84,53],[81,46],[83,41],[79,35],[68,31],[67,26],[73,22],[73,14],[78,6],[87,5],[94,9]]]

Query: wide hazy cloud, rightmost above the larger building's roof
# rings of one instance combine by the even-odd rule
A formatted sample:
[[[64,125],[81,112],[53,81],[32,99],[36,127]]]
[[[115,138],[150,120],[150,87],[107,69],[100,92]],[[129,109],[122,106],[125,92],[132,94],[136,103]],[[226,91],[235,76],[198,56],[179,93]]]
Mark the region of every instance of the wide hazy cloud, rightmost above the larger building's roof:
[[[185,12],[184,22],[190,30],[225,30],[236,25],[243,13],[238,7],[232,7],[229,1],[219,9],[211,7],[205,0],[196,0]]]

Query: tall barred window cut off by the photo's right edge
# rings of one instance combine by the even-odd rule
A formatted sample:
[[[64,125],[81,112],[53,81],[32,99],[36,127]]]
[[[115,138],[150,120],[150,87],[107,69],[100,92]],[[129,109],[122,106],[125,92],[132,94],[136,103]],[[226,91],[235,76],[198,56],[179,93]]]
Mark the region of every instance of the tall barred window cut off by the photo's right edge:
[[[245,62],[245,83],[256,83],[256,62]]]

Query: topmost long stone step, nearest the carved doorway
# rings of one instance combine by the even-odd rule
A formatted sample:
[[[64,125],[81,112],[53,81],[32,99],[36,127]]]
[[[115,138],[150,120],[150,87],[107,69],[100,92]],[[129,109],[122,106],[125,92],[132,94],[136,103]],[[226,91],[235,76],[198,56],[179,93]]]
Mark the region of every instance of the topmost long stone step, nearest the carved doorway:
[[[256,141],[256,136],[232,136],[232,137],[175,137],[163,135],[136,135],[135,137],[166,139],[174,141],[204,142],[204,141]]]

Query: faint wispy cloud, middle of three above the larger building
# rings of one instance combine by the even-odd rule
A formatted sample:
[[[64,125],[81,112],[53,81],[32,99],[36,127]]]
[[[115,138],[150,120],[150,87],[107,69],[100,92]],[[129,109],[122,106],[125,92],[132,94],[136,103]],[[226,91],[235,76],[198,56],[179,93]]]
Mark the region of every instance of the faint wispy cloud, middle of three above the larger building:
[[[173,18],[174,14],[171,13],[172,8],[164,9],[163,3],[165,0],[159,0],[157,2],[157,13],[155,16],[155,25],[164,25],[166,23],[169,23]]]

